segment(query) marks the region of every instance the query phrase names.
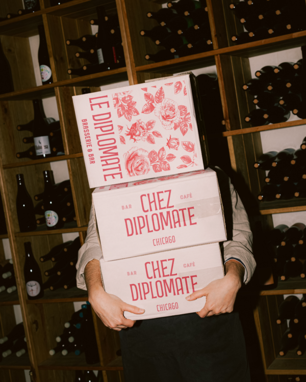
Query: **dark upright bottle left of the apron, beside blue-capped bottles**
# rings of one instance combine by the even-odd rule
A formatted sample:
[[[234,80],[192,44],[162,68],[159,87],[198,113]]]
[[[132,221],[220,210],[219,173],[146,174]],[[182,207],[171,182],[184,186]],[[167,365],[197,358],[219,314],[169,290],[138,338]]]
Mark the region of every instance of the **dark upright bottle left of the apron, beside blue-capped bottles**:
[[[86,308],[85,308],[86,307]],[[82,305],[84,309],[84,352],[85,360],[88,364],[99,362],[98,346],[93,325],[92,311],[90,305]]]

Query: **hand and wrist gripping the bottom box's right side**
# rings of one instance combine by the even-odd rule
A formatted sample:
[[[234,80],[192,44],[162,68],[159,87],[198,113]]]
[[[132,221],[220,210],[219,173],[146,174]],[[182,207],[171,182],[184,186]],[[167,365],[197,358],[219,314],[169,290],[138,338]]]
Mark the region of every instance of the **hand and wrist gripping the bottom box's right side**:
[[[221,313],[231,313],[238,290],[241,288],[244,276],[244,266],[236,260],[229,260],[225,264],[226,275],[223,279],[215,280],[205,288],[187,296],[188,301],[206,296],[206,304],[197,314],[200,317],[210,317]]]

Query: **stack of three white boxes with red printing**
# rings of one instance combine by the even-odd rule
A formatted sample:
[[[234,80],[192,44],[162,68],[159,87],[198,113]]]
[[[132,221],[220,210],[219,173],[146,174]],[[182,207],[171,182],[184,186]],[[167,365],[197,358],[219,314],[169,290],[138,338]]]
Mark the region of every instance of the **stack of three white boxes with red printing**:
[[[200,311],[226,240],[195,76],[73,97],[106,292],[147,319]]]

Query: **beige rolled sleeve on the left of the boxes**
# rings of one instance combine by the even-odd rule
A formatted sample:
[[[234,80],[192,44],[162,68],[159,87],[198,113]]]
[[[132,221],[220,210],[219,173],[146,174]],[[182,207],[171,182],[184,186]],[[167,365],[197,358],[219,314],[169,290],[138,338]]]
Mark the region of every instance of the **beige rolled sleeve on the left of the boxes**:
[[[87,289],[84,278],[84,269],[87,263],[93,259],[100,260],[102,256],[102,251],[100,249],[97,231],[94,222],[93,216],[93,206],[91,206],[89,223],[87,229],[87,236],[85,239],[85,243],[82,245],[79,250],[79,257],[77,262],[77,286],[81,289]]]

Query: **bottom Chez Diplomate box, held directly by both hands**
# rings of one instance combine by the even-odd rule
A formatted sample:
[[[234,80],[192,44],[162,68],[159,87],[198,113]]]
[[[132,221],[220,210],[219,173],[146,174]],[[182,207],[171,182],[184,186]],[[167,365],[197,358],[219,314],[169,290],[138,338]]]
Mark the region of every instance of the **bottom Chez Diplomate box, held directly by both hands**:
[[[224,276],[219,243],[116,261],[101,258],[100,269],[107,293],[145,309],[139,315],[124,312],[132,320],[199,312],[206,297],[185,297]]]

